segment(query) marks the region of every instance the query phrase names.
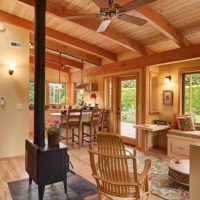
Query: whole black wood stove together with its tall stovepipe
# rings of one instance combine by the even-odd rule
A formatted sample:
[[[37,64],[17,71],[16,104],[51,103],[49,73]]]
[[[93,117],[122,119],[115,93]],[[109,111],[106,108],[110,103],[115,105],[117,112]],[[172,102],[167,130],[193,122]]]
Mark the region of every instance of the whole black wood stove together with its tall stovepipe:
[[[35,87],[34,87],[34,142],[26,140],[26,164],[29,184],[38,185],[39,200],[43,199],[45,185],[63,181],[67,192],[69,157],[67,146],[49,147],[45,142],[45,17],[46,0],[35,0]]]

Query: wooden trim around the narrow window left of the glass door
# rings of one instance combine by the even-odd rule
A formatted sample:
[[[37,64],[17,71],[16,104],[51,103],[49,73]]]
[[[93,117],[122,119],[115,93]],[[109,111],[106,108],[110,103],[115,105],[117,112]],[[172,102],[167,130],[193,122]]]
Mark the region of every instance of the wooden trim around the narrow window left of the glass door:
[[[109,107],[109,105],[106,105],[106,102],[109,102],[109,96],[110,96],[110,90],[109,90],[109,84],[107,84],[107,91],[108,93],[105,95],[105,81],[106,80],[111,80],[111,85],[112,85],[112,89],[111,89],[111,106]],[[107,100],[106,100],[106,96],[107,96]],[[108,77],[104,77],[103,78],[103,105],[104,108],[108,111],[113,111],[113,76],[108,76]]]

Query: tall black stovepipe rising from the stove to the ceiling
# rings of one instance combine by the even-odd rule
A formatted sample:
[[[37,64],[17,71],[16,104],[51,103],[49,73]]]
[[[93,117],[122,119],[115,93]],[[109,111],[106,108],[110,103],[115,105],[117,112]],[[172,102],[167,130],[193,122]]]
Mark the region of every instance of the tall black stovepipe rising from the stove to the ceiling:
[[[46,0],[35,0],[34,144],[45,146],[45,13]]]

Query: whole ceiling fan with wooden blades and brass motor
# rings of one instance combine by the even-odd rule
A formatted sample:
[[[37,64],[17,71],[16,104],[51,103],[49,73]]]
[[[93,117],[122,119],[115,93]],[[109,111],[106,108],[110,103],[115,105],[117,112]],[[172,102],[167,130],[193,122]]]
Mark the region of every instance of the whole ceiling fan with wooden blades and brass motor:
[[[118,0],[92,0],[98,7],[100,7],[99,14],[88,14],[88,15],[74,15],[64,17],[65,19],[81,19],[90,17],[105,17],[97,29],[97,32],[104,32],[109,26],[113,18],[136,24],[139,26],[144,25],[147,21],[139,17],[127,15],[126,12],[154,2],[156,0],[133,0],[123,6],[118,4]]]

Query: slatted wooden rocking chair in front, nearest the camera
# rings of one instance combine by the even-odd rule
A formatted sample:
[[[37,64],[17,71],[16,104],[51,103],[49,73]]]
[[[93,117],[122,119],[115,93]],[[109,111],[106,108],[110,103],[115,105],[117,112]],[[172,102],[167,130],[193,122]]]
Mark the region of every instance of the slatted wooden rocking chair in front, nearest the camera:
[[[90,162],[93,177],[97,183],[98,200],[106,197],[135,198],[141,200],[147,197],[150,200],[148,173],[151,160],[145,161],[141,174],[137,173],[135,156],[106,154],[93,150],[90,145]],[[128,168],[128,160],[132,162],[132,172]]]

